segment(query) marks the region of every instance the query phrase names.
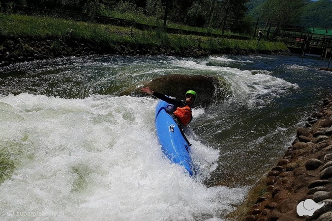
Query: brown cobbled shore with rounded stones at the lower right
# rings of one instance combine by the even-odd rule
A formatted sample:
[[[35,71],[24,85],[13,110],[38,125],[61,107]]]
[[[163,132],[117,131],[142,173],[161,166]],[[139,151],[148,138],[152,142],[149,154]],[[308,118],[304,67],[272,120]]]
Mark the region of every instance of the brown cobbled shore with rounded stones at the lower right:
[[[332,221],[332,98],[296,130],[284,157],[228,215],[234,221]],[[306,200],[325,205],[312,216],[299,216]]]

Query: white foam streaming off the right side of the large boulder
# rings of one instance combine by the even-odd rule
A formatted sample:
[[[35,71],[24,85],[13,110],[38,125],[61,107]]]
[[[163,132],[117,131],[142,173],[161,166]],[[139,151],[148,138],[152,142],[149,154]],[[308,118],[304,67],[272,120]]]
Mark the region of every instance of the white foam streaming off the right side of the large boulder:
[[[223,56],[222,59],[228,60],[229,58]],[[262,108],[270,102],[271,98],[279,97],[299,88],[297,83],[273,77],[272,73],[267,70],[249,71],[231,67],[208,66],[204,61],[195,62],[192,60],[173,60],[172,64],[186,69],[204,70],[204,74],[223,77],[231,85],[232,101],[235,99],[237,103],[243,102],[250,109]]]

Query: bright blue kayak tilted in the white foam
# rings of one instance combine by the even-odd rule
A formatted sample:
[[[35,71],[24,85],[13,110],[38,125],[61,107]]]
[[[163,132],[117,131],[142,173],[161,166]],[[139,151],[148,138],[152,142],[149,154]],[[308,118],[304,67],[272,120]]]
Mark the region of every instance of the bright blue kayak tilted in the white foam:
[[[166,112],[167,105],[165,101],[159,101],[155,108],[154,122],[161,150],[171,162],[184,166],[193,175],[189,144],[173,117]]]

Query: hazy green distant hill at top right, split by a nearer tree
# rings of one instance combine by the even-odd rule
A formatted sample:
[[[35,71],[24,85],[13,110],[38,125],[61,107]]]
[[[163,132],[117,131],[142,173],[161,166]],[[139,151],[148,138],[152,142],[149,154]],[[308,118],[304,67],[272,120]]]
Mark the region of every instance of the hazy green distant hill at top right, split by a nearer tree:
[[[254,18],[260,16],[260,11],[263,3],[266,0],[249,0],[246,3],[248,8],[248,15]],[[332,27],[332,0],[303,0],[302,19],[299,24],[294,24],[303,27]]]

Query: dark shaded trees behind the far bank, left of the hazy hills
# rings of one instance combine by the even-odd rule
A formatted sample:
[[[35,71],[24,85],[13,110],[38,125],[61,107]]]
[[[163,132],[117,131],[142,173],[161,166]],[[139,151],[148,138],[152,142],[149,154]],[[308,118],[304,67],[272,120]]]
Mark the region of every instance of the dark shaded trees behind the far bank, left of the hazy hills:
[[[10,12],[14,4],[51,10],[71,10],[147,23],[167,22],[204,28],[245,31],[247,0],[0,0],[0,9]],[[167,13],[165,13],[167,12]],[[149,18],[149,19],[148,19]],[[227,18],[227,23],[225,19]]]

